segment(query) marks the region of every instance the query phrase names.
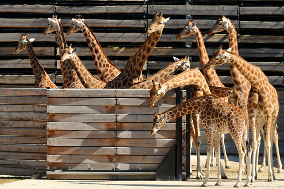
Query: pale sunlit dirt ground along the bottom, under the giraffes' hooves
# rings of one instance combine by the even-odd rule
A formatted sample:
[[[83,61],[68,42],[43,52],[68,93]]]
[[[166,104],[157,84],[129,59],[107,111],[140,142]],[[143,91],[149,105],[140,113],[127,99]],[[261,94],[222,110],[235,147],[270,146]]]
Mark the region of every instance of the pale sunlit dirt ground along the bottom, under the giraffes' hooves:
[[[225,168],[225,173],[228,177],[227,180],[222,180],[221,186],[215,186],[216,183],[216,167],[210,168],[210,179],[207,183],[210,188],[232,188],[236,183],[237,169],[238,169],[238,156],[228,156],[230,160],[231,168]],[[201,156],[202,171],[205,175],[206,168],[204,162],[206,156]],[[284,156],[281,157],[281,162],[284,162]],[[221,157],[221,163],[224,165],[223,157]],[[262,158],[259,158],[258,168],[262,163]],[[152,188],[165,189],[165,188],[182,188],[182,187],[193,187],[199,188],[203,183],[203,180],[197,180],[196,177],[196,156],[191,156],[191,164],[193,175],[190,176],[190,180],[187,181],[156,181],[156,180],[49,180],[44,177],[43,179],[24,179],[10,183],[0,184],[1,189],[11,188],[28,188],[28,189],[41,189],[41,188],[60,188],[60,189],[105,189],[105,188],[116,188],[116,189],[130,189],[130,188]],[[251,188],[277,188],[284,189],[284,173],[276,173],[277,171],[277,159],[273,158],[273,169],[275,171],[276,180],[273,182],[267,182],[267,166],[264,168],[264,172],[257,173],[257,180],[254,183],[250,183]],[[283,170],[284,171],[284,170]],[[4,176],[4,175],[1,175]],[[6,175],[7,176],[7,175]],[[242,181],[240,186],[245,184],[246,175],[242,174]]]

